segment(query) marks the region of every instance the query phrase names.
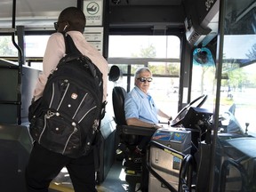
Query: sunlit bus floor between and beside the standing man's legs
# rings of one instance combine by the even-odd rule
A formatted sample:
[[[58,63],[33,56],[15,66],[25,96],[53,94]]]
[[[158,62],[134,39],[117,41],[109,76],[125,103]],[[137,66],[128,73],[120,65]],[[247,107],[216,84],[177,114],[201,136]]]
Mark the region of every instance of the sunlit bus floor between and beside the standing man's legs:
[[[100,185],[97,185],[97,190],[98,192],[125,192],[128,190],[128,183],[125,181],[121,161],[116,161],[111,166],[106,179]],[[57,178],[52,180],[49,192],[75,192],[67,170],[63,169]]]

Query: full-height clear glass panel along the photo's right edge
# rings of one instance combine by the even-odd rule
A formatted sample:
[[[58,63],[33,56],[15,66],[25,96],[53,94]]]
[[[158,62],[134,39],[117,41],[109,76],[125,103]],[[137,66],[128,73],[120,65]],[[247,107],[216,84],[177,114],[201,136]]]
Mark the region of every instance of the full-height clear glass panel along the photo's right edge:
[[[214,124],[217,146],[214,181],[223,191],[253,191],[256,135],[255,1],[223,1],[220,33],[220,106]],[[221,66],[222,65],[222,66]],[[219,67],[219,66],[218,66]],[[218,132],[217,132],[218,131]],[[254,136],[254,137],[253,137]],[[212,167],[213,168],[213,167]],[[219,174],[225,172],[224,174]],[[218,191],[214,185],[213,191]]]

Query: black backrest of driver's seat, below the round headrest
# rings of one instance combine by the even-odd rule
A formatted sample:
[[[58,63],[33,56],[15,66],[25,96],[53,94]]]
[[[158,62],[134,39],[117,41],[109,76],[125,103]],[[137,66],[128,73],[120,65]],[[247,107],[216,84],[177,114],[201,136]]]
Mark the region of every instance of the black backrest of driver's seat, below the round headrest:
[[[115,120],[117,125],[126,124],[125,114],[124,114],[124,100],[127,92],[123,87],[116,86],[113,88],[112,92],[112,103],[114,108]]]

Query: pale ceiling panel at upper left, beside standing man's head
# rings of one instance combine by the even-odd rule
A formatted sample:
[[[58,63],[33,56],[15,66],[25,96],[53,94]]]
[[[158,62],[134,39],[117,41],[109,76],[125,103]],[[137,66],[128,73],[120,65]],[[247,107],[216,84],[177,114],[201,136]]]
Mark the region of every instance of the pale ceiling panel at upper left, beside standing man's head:
[[[16,26],[30,27],[49,26],[56,21],[60,12],[68,7],[76,6],[75,0],[17,0],[16,1]],[[1,28],[12,27],[12,0],[0,2]]]

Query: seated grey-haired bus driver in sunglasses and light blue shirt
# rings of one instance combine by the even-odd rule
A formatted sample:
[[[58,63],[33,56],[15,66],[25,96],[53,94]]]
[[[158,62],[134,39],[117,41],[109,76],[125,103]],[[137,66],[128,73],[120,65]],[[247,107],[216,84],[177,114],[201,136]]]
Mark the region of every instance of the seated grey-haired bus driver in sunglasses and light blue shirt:
[[[134,74],[134,88],[128,92],[124,101],[126,124],[148,128],[160,128],[157,116],[172,120],[172,116],[166,115],[156,107],[153,98],[148,93],[152,82],[152,73],[149,68],[138,68]],[[140,155],[145,153],[146,145],[150,137],[142,137],[135,152]]]

